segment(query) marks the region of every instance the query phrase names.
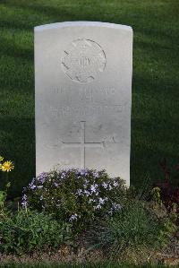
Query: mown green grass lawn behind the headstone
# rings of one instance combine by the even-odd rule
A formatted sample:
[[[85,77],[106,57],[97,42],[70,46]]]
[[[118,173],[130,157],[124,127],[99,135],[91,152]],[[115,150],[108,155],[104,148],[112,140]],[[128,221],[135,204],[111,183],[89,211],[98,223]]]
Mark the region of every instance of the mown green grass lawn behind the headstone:
[[[177,163],[178,13],[178,0],[0,1],[0,153],[15,162],[13,195],[35,176],[33,28],[46,23],[132,26],[132,185],[160,178],[164,157]]]

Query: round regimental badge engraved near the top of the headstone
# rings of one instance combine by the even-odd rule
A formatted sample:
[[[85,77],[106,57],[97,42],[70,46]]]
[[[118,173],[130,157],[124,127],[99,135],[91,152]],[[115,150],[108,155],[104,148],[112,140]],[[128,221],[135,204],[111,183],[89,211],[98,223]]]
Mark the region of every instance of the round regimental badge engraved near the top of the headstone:
[[[61,60],[64,73],[74,82],[92,82],[104,71],[106,62],[104,50],[90,39],[72,41]]]

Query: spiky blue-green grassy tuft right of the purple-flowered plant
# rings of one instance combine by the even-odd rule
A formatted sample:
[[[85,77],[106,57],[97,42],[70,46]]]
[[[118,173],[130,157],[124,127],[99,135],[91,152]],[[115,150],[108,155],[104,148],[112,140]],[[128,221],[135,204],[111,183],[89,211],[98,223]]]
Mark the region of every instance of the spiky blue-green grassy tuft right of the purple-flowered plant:
[[[144,203],[137,200],[126,203],[121,212],[116,213],[102,226],[97,234],[98,245],[111,247],[114,254],[128,251],[129,248],[158,248],[171,231],[167,229],[163,232],[166,229],[165,224],[154,219],[146,211]]]

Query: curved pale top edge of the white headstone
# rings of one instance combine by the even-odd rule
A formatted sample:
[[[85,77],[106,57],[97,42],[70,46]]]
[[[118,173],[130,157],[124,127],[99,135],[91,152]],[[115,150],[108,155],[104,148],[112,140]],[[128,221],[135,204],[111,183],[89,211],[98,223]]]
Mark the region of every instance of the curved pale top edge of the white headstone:
[[[50,23],[45,25],[36,26],[34,28],[35,31],[38,30],[50,30],[55,28],[64,28],[64,27],[79,27],[79,26],[88,26],[88,27],[106,27],[106,28],[113,28],[118,30],[129,30],[132,31],[131,26],[126,26],[122,24],[115,24],[109,22],[56,22]]]

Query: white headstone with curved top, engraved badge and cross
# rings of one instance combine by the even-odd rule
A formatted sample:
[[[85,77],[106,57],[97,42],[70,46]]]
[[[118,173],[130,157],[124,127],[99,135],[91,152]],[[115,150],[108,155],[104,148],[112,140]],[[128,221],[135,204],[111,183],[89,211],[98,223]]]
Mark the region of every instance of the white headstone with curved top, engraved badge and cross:
[[[36,171],[106,169],[130,183],[132,28],[35,28]]]

